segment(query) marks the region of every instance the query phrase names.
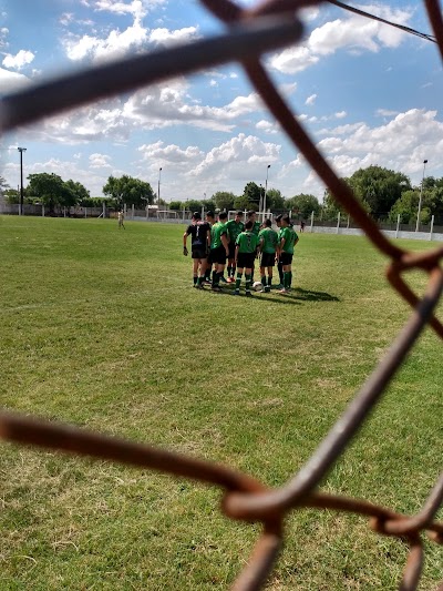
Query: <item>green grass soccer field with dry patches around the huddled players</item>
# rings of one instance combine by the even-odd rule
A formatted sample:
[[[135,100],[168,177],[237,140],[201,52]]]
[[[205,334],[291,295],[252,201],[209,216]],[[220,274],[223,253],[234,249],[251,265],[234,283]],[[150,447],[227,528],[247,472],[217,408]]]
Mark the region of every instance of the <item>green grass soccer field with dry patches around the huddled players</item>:
[[[0,217],[0,404],[282,485],[409,308],[387,261],[351,236],[303,234],[289,296],[199,293],[183,231]],[[322,489],[419,511],[442,468],[442,378],[427,329]],[[257,538],[222,516],[218,489],[188,480],[6,444],[0,473],[2,591],[228,589]],[[268,588],[394,590],[406,554],[363,518],[297,511]],[[442,564],[427,544],[420,589]]]

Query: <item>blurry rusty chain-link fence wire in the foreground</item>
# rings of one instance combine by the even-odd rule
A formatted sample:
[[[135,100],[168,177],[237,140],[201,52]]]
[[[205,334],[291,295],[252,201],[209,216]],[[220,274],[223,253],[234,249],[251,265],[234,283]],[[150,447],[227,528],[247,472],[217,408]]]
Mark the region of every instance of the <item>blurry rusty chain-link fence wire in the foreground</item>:
[[[414,516],[399,514],[370,501],[326,495],[318,485],[350,444],[370,410],[377,405],[390,380],[401,367],[415,340],[430,325],[443,338],[443,325],[434,310],[443,289],[440,265],[443,246],[414,254],[393,245],[353,197],[350,188],[336,175],[303,130],[295,113],[270,81],[261,55],[266,51],[296,43],[303,27],[300,8],[319,3],[317,0],[265,0],[244,10],[230,0],[202,0],[202,3],[226,24],[226,32],[192,44],[131,58],[94,70],[59,78],[6,96],[0,104],[2,132],[79,106],[104,96],[142,85],[153,84],[176,74],[195,72],[228,61],[238,61],[262,101],[279,122],[306,161],[333,193],[337,201],[364,231],[369,241],[390,258],[387,276],[392,287],[411,305],[412,314],[394,343],[367,379],[342,416],[320,442],[312,457],[293,478],[279,489],[268,489],[256,479],[228,467],[120,440],[81,429],[0,414],[0,437],[19,444],[31,444],[152,468],[188,477],[224,489],[222,510],[226,516],[247,522],[261,522],[262,532],[248,564],[233,589],[261,589],[271,572],[282,546],[282,522],[297,507],[348,511],[370,518],[370,527],[385,536],[402,539],[409,544],[409,557],[400,589],[416,589],[424,559],[422,534],[443,543],[443,523],[435,516],[443,501],[443,473],[427,499]],[[331,1],[336,6],[341,2]],[[443,19],[439,0],[424,0],[432,29],[443,58]],[[405,283],[403,275],[422,269],[429,276],[424,296],[419,298]],[[443,591],[443,583],[440,585]]]

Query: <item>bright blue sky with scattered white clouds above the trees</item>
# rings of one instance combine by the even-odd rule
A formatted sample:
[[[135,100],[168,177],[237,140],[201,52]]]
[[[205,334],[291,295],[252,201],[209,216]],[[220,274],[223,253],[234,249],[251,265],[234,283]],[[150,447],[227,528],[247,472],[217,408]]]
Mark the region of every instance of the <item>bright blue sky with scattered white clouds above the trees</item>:
[[[251,4],[251,0],[239,2]],[[254,2],[256,3],[256,2]],[[431,32],[422,2],[348,3]],[[443,176],[437,47],[328,3],[302,13],[300,44],[266,55],[272,79],[342,176],[379,164]],[[186,43],[220,27],[193,0],[0,0],[0,93],[70,69]],[[249,181],[290,197],[324,186],[235,64],[63,113],[1,140],[1,174],[54,172],[102,195],[110,175],[147,181],[166,201],[241,194]],[[27,183],[24,183],[27,184]]]

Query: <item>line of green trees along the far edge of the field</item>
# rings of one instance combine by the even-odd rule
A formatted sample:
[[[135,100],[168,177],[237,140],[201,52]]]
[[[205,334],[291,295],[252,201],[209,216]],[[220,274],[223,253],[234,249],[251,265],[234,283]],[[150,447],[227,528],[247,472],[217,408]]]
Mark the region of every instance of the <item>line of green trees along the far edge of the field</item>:
[[[157,195],[150,183],[123,175],[110,176],[103,185],[105,197],[91,197],[90,192],[79,182],[63,181],[54,173],[37,173],[28,176],[28,186],[24,188],[25,203],[42,203],[50,212],[58,208],[72,206],[101,206],[119,208],[124,205],[145,208],[157,203]],[[398,215],[403,224],[414,223],[418,215],[420,195],[422,207],[420,222],[427,224],[431,216],[435,223],[443,223],[443,177],[427,176],[423,186],[413,186],[410,179],[400,172],[394,172],[382,166],[368,166],[359,169],[352,176],[343,179],[360,201],[368,215],[378,221],[396,222]],[[20,192],[9,187],[4,179],[0,177],[0,192],[9,203],[19,203]],[[188,211],[205,210],[259,210],[265,201],[265,188],[255,182],[245,185],[241,195],[228,191],[218,191],[210,198],[175,200],[166,204],[161,200],[159,205],[169,210]],[[322,220],[337,220],[339,212],[346,212],[337,204],[327,190],[323,203],[311,194],[299,193],[285,197],[277,188],[266,191],[266,210],[271,212],[291,212],[299,220],[308,220],[313,212],[315,217]]]

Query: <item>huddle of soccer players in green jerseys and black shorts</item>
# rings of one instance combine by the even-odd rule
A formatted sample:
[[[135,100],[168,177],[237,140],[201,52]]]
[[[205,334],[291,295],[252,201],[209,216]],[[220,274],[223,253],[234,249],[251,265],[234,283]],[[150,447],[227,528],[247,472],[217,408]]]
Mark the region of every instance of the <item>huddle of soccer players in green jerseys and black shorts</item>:
[[[280,294],[288,294],[292,283],[293,247],[299,238],[288,215],[276,216],[276,224],[278,232],[272,230],[270,220],[260,225],[255,211],[247,212],[246,223],[241,211],[229,221],[226,212],[218,214],[218,221],[212,211],[206,213],[206,221],[195,212],[183,234],[185,256],[188,255],[187,237],[190,236],[194,287],[203,289],[205,284],[209,284],[214,292],[220,292],[220,282],[235,283],[234,295],[239,295],[245,273],[245,293],[250,296],[255,261],[260,257],[259,291],[270,292],[277,263],[280,278],[277,289]],[[226,261],[227,278],[224,276]]]

